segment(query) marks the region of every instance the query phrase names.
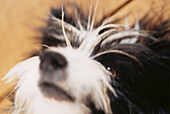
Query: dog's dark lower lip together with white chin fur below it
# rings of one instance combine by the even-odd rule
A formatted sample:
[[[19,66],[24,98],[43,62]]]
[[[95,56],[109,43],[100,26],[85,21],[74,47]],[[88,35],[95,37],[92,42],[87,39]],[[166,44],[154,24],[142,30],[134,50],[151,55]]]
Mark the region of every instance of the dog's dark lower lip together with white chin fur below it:
[[[33,108],[34,114],[89,114],[90,109],[81,102],[76,102],[68,91],[55,83],[40,81],[39,89],[42,99],[36,99],[33,104],[39,104]],[[41,103],[39,103],[41,102]],[[38,108],[40,107],[40,108]]]

